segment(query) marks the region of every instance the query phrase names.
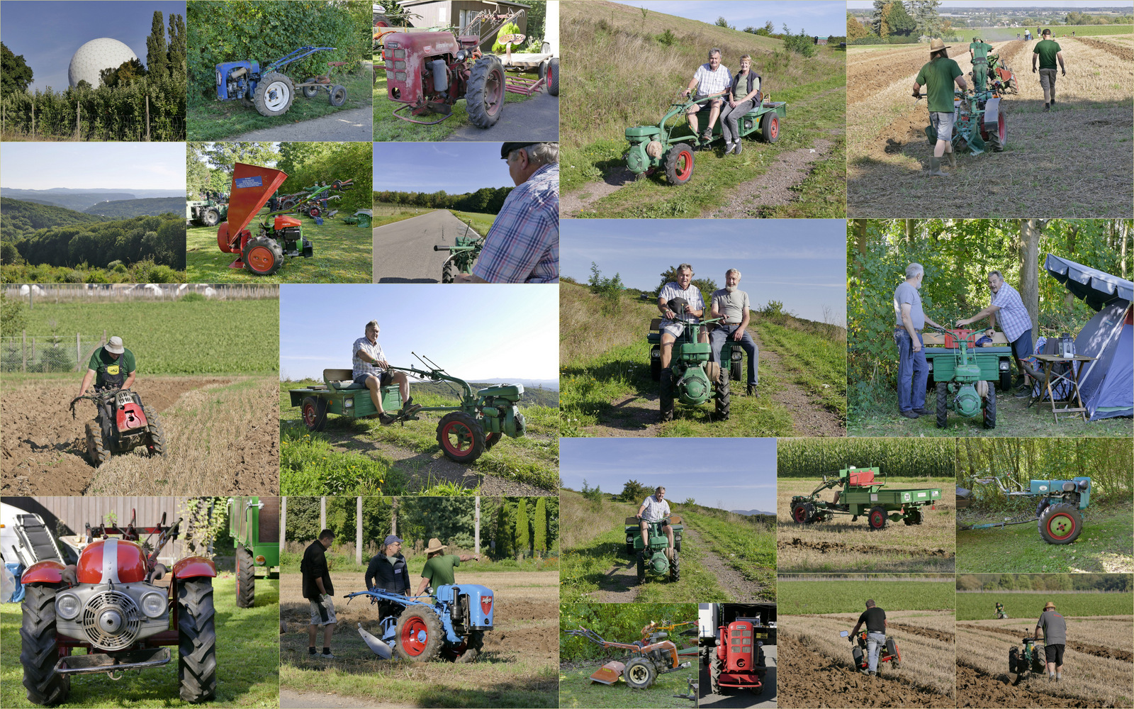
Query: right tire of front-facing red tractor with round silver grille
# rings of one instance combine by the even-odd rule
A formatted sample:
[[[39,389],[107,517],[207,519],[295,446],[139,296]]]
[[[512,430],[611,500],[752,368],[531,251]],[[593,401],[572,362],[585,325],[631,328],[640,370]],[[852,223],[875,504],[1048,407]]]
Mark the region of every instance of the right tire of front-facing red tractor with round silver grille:
[[[217,695],[217,632],[212,579],[177,580],[177,678],[181,699],[200,702]]]

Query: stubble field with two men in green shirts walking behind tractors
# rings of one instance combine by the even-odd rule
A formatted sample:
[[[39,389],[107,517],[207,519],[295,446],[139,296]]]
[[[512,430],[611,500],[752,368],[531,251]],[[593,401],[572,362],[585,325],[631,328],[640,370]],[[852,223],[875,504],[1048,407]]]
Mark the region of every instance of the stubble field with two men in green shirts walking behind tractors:
[[[1004,96],[1007,147],[958,154],[957,168],[946,168],[949,177],[933,179],[924,172],[932,155],[923,133],[926,104],[909,95],[929,58],[926,45],[850,48],[848,216],[883,217],[913,205],[923,217],[1129,216],[1132,50],[1120,37],[1059,34],[1067,75],[1058,77],[1050,112],[1043,112],[1043,92],[1030,70],[1034,41],[991,42],[1019,85]],[[967,74],[967,44],[953,45],[949,56]]]

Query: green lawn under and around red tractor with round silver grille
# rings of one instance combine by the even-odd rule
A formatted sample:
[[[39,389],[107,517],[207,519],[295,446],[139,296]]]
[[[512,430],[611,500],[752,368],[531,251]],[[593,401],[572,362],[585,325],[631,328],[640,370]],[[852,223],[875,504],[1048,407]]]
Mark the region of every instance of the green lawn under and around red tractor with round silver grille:
[[[161,667],[107,675],[79,675],[59,707],[279,707],[279,581],[256,580],[256,605],[236,607],[230,573],[213,582],[217,627],[217,699],[202,704],[183,701],[177,680],[177,648]],[[35,707],[24,691],[19,664],[20,607],[0,606],[0,706]]]

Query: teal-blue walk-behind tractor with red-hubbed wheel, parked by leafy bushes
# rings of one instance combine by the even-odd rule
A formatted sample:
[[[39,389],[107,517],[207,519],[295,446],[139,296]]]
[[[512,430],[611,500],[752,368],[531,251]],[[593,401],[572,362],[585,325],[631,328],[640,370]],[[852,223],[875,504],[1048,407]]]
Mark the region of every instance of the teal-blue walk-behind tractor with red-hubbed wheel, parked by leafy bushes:
[[[1005,499],[1014,497],[1035,497],[1039,503],[1035,507],[1036,525],[1040,537],[1049,545],[1069,545],[1078,539],[1083,531],[1083,522],[1086,515],[1082,510],[1086,509],[1091,503],[1091,479],[1072,478],[1070,480],[1032,480],[1027,490],[1023,486],[1013,481],[1008,475],[973,478],[974,483],[989,484],[995,482]],[[957,486],[957,509],[971,507],[973,504],[973,490]],[[1016,522],[992,522],[985,524],[968,524],[960,526],[962,530],[989,530],[993,527],[1005,527],[1012,524],[1029,524],[1032,520],[1021,520]]]

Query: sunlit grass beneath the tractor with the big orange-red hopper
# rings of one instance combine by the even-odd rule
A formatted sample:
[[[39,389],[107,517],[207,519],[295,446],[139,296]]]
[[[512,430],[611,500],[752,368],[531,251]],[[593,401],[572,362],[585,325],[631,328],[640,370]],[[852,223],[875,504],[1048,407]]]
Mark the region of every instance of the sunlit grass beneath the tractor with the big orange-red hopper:
[[[266,214],[266,209],[261,210]],[[353,212],[352,212],[353,213]],[[238,256],[217,247],[217,227],[189,228],[186,234],[186,273],[193,282],[220,284],[369,284],[373,271],[373,238],[370,229],[344,223],[341,211],[316,226],[314,219],[293,214],[303,222],[303,236],[314,244],[310,259],[285,256],[284,265],[271,276],[255,276],[228,265]],[[253,219],[253,236],[260,228]]]

